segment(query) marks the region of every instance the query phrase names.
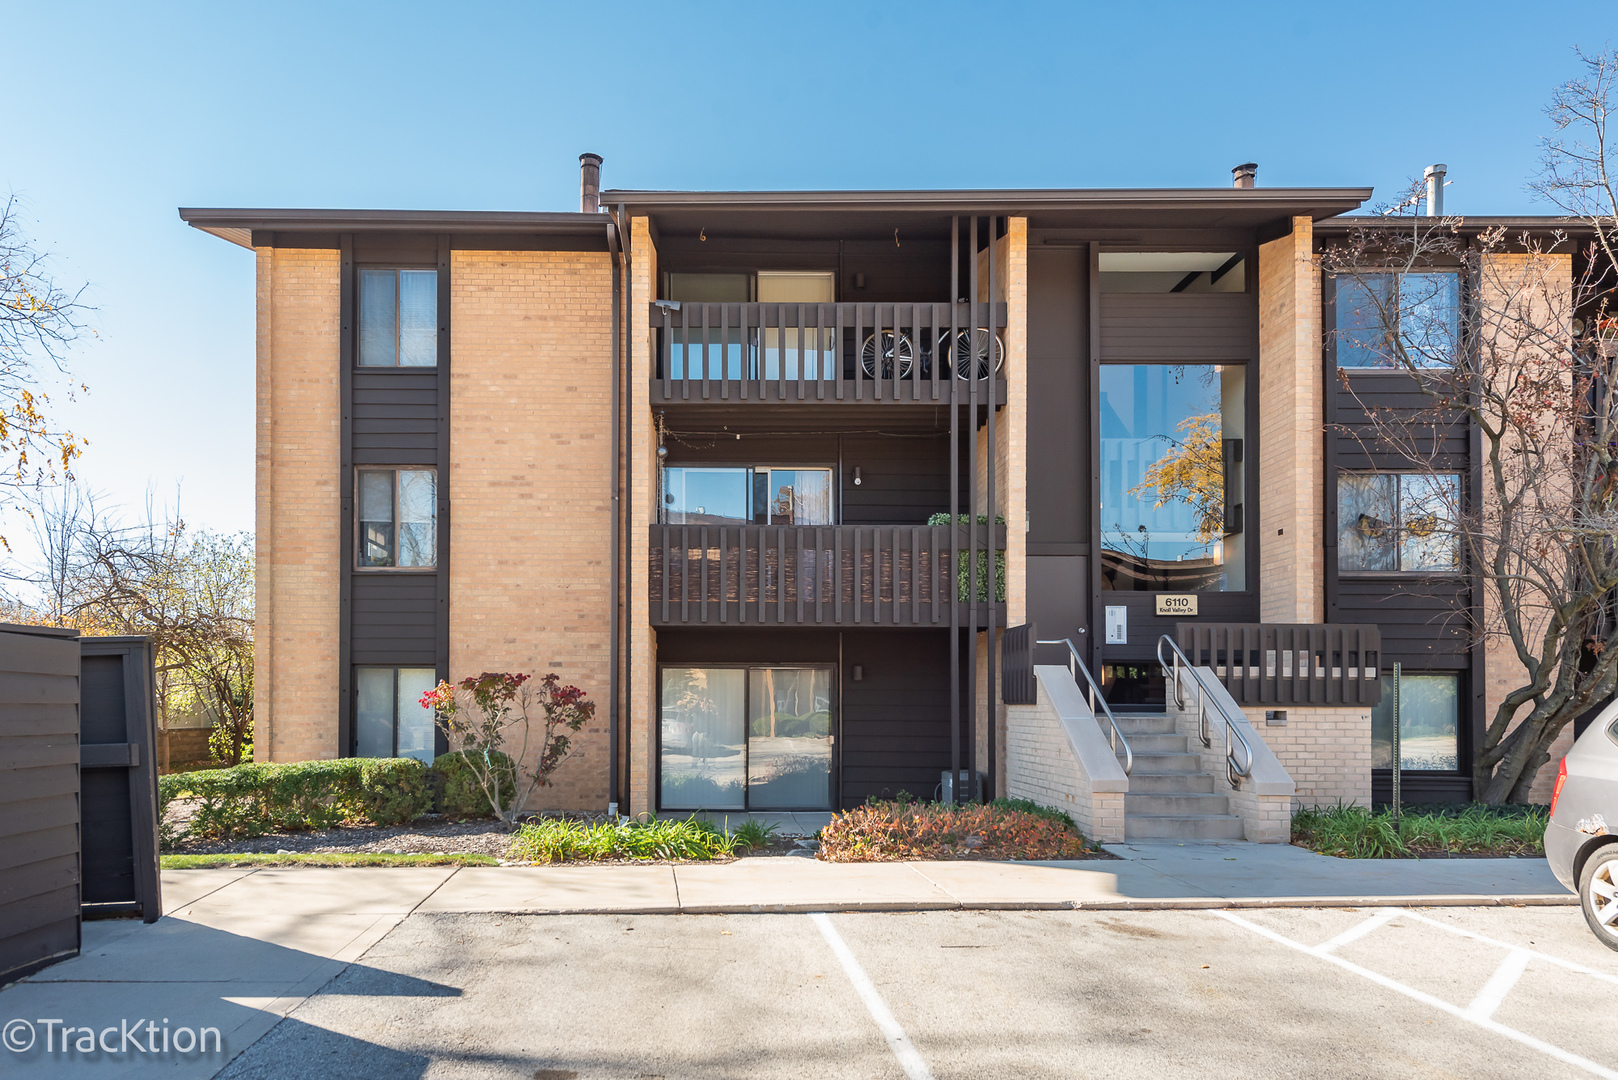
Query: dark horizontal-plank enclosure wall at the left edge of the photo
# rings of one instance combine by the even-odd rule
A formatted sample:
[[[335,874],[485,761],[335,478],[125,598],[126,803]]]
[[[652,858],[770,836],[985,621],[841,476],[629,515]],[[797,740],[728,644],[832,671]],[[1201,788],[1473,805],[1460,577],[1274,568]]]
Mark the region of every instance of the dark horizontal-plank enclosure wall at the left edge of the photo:
[[[0,631],[0,983],[79,950],[79,641]]]

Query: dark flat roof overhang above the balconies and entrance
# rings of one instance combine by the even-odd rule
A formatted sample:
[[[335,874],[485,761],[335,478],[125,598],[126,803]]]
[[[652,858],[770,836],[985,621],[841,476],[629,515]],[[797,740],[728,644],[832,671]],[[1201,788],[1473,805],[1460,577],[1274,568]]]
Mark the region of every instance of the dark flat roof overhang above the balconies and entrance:
[[[618,191],[602,206],[663,235],[728,238],[948,238],[948,219],[1027,217],[1031,228],[1247,228],[1359,209],[1370,188],[1095,188],[990,191]]]

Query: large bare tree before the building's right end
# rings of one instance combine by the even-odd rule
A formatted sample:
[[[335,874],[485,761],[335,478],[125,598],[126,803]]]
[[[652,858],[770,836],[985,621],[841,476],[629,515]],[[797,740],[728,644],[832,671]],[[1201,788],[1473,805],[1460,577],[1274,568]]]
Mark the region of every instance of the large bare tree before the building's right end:
[[[1340,363],[1401,372],[1425,403],[1361,402],[1367,450],[1422,483],[1411,505],[1340,521],[1345,542],[1469,572],[1480,596],[1461,591],[1455,617],[1521,669],[1474,748],[1474,792],[1489,803],[1526,801],[1557,737],[1618,685],[1618,157],[1607,130],[1618,53],[1579,60],[1582,78],[1552,97],[1558,134],[1532,185],[1569,214],[1561,228],[1468,228],[1416,214],[1413,194],[1320,256],[1336,280]],[[1446,436],[1468,427],[1482,445],[1471,492],[1445,457]]]

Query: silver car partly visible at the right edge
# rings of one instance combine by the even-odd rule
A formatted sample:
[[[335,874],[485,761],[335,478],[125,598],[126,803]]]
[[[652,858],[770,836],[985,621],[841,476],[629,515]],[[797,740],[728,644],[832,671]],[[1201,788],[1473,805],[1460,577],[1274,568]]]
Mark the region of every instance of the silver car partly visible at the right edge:
[[[1607,824],[1612,814],[1613,824]],[[1579,894],[1584,921],[1618,950],[1618,701],[1573,743],[1557,771],[1545,860]]]

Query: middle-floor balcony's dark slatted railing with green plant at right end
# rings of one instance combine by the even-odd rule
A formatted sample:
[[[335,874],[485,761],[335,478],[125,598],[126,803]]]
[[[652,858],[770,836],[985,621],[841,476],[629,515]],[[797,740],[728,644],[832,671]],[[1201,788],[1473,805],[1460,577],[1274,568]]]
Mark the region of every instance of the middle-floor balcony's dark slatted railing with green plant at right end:
[[[990,580],[987,552],[993,549],[1003,567],[1005,542],[1005,525],[982,523],[953,529],[654,525],[650,622],[659,628],[948,628],[953,604],[956,625],[987,627],[993,619],[1003,627],[1005,585]],[[969,599],[971,547],[979,551],[976,602]]]

